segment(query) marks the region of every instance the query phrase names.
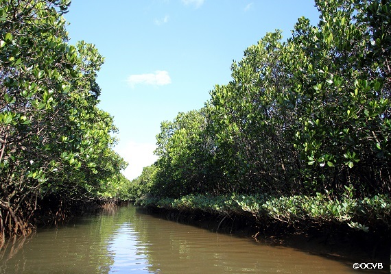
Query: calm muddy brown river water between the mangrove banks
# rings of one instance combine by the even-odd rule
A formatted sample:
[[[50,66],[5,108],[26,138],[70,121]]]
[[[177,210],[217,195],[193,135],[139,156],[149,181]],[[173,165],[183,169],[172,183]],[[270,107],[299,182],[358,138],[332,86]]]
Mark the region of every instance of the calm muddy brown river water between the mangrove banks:
[[[18,245],[19,243],[19,245]],[[79,219],[0,253],[0,273],[362,273],[352,264],[182,225],[134,206]],[[368,273],[368,272],[365,272]]]

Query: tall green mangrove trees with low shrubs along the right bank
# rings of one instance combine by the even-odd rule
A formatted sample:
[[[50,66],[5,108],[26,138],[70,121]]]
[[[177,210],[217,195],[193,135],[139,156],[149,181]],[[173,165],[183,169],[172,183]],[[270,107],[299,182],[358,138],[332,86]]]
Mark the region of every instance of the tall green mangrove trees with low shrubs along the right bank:
[[[267,34],[204,108],[161,124],[141,205],[390,229],[391,3],[316,6],[317,26]]]

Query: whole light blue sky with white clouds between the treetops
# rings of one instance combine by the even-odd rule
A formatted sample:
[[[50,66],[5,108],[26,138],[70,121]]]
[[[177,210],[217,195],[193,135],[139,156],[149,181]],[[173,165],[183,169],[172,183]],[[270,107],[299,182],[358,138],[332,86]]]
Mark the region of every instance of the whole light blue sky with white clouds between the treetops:
[[[312,0],[73,0],[70,43],[95,44],[106,58],[99,108],[115,117],[124,175],[156,160],[162,121],[202,108],[230,81],[233,60],[274,29],[288,38],[300,16],[318,23]]]

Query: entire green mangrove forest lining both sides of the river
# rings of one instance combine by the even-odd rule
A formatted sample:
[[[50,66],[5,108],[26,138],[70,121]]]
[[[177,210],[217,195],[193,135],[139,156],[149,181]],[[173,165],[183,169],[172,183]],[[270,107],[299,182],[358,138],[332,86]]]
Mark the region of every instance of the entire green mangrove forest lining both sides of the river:
[[[161,123],[131,182],[70,2],[0,0],[0,247],[117,201],[390,240],[390,1],[316,0],[316,25],[250,45],[203,108]]]

